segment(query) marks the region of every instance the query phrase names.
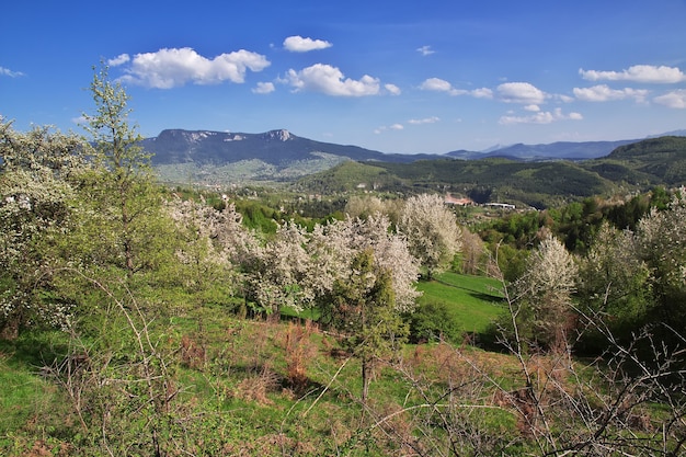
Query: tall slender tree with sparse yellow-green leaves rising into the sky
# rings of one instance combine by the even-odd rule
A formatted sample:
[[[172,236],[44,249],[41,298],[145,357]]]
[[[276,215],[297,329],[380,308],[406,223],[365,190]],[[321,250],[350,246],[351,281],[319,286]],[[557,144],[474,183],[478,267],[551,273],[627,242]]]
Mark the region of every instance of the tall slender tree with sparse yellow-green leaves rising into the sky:
[[[142,137],[128,122],[128,94],[110,80],[104,65],[95,71],[90,90],[95,112],[83,114],[84,128],[94,144],[98,169],[84,197],[93,204],[100,232],[95,256],[107,259],[130,277],[151,267],[164,252],[163,237],[158,236],[164,229],[159,218],[161,199],[155,192],[150,156],[139,145]]]

